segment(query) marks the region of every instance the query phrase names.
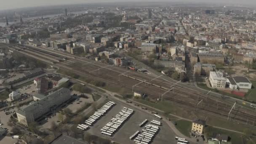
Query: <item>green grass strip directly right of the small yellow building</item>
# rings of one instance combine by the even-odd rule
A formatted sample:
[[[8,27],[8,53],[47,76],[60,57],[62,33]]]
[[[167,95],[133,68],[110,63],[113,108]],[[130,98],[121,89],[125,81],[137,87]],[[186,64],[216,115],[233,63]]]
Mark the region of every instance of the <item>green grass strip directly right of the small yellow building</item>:
[[[220,134],[225,134],[225,135],[229,136],[232,144],[243,144],[243,135],[242,134],[222,130],[219,128],[213,128],[211,126],[206,126],[204,128],[204,131],[205,131],[205,135],[207,135],[208,137],[211,137],[213,135],[213,133],[220,133]]]

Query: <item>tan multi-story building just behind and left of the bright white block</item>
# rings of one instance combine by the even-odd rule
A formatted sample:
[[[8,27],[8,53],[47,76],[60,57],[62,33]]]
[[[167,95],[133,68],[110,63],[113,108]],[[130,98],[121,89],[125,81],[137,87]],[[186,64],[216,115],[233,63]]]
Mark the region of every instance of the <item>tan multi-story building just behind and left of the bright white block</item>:
[[[202,64],[197,63],[194,65],[194,74],[197,75],[210,75],[210,72],[215,71],[215,64]]]

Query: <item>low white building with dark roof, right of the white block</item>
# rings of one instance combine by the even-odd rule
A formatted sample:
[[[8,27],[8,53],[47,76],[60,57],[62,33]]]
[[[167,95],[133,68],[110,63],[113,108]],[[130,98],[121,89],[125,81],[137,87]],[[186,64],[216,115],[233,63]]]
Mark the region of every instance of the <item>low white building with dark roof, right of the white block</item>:
[[[229,85],[229,88],[232,89],[237,89],[237,88],[242,88],[242,89],[251,89],[252,83],[250,80],[248,80],[247,77],[227,77],[227,84]]]

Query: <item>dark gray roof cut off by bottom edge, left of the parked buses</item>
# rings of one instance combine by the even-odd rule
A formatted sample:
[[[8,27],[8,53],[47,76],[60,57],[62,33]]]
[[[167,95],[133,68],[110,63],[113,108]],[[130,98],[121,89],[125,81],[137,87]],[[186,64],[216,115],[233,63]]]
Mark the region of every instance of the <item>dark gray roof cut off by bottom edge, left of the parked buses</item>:
[[[71,136],[60,135],[56,139],[54,139],[50,144],[88,144],[85,141],[79,141]]]

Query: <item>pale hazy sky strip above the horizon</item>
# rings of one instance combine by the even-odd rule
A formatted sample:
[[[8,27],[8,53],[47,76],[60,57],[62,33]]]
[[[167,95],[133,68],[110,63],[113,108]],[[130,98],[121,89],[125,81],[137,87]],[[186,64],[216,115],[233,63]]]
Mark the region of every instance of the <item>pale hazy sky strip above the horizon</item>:
[[[22,7],[33,7],[33,6],[45,6],[45,5],[61,5],[61,4],[76,4],[76,3],[92,3],[92,2],[129,2],[131,0],[0,0],[0,10],[22,8]],[[256,5],[256,0],[132,0],[135,2],[139,1],[179,1],[179,2],[215,2],[215,3],[241,3],[241,4],[252,4]],[[118,5],[118,3],[117,3]],[[114,6],[114,5],[113,5]]]

